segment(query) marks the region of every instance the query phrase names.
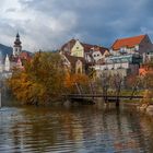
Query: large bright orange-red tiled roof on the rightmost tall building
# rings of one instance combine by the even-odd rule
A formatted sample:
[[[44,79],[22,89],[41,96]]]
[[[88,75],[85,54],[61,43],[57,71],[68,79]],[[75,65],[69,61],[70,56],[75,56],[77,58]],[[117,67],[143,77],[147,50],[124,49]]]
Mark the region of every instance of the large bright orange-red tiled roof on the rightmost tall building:
[[[120,38],[120,39],[117,39],[111,48],[114,50],[118,50],[120,49],[121,47],[128,47],[128,48],[132,48],[134,47],[136,45],[139,45],[142,39],[145,37],[146,35],[140,35],[140,36],[134,36],[134,37],[128,37],[128,38]]]

